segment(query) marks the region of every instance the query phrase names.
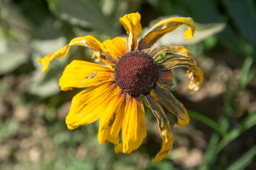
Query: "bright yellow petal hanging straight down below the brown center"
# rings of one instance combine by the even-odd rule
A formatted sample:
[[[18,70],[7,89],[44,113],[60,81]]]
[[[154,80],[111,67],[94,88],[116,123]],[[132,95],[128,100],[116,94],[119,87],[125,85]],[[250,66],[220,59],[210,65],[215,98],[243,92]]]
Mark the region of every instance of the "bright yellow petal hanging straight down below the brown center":
[[[140,147],[147,136],[145,111],[140,97],[128,96],[122,124],[122,141],[115,152],[131,153]]]

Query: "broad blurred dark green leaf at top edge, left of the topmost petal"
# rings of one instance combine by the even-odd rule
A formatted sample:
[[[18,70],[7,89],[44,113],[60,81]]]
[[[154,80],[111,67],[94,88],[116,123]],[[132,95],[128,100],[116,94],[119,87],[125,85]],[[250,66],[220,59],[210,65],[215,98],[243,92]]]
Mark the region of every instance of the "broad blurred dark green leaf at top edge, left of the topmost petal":
[[[48,0],[50,10],[63,20],[82,27],[97,29],[115,35],[118,29],[114,26],[115,18],[103,15],[98,1],[90,0]],[[116,32],[117,31],[117,32]]]

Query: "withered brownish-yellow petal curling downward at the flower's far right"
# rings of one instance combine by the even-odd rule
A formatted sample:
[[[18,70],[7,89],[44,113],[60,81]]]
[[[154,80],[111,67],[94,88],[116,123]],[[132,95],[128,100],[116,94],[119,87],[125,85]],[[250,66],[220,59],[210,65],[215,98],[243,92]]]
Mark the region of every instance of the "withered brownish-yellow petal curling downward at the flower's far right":
[[[192,93],[196,92],[204,81],[204,73],[202,69],[197,67],[196,61],[193,59],[189,51],[184,46],[165,46],[158,50],[162,53],[171,54],[170,57],[167,57],[162,62],[158,63],[159,71],[168,71],[177,66],[188,67],[186,76],[191,80],[188,90]]]

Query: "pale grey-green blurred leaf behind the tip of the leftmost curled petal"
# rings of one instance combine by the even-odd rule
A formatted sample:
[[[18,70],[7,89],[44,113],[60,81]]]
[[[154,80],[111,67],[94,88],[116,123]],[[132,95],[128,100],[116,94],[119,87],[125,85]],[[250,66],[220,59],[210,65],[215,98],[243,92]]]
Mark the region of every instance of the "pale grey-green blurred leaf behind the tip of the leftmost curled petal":
[[[45,55],[55,52],[58,48],[65,46],[65,44],[66,39],[63,37],[47,40],[34,39],[32,41],[32,62],[36,69],[31,75],[28,87],[28,91],[31,94],[35,94],[40,97],[48,97],[60,92],[58,78],[60,78],[63,67],[67,65],[69,55],[61,60],[53,60],[49,68],[44,73],[41,72],[42,64],[40,64],[36,59],[41,59]]]

